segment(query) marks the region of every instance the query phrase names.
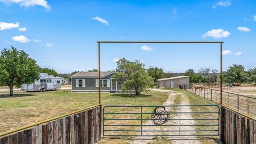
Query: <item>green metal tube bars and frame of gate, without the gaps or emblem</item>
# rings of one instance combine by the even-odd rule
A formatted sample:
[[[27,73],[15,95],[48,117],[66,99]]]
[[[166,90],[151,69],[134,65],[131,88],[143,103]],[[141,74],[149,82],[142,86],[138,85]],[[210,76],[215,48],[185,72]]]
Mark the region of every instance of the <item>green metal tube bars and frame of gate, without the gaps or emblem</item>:
[[[218,111],[195,111],[195,112],[186,112],[186,111],[181,111],[181,107],[200,107],[200,106],[207,106],[207,107],[218,107]],[[109,107],[138,107],[140,108],[140,113],[105,113],[105,109],[109,108]],[[143,114],[153,114],[153,113],[142,113],[142,109],[144,107],[178,107],[179,110],[177,112],[168,112],[168,114],[179,114],[179,118],[174,119],[174,118],[166,118],[167,121],[179,121],[179,124],[176,125],[157,125],[157,124],[153,124],[153,125],[144,125],[143,121],[153,121],[153,120],[159,120],[159,119],[155,119],[155,117],[153,117],[153,119],[145,119],[142,118]],[[191,118],[191,119],[182,119],[181,115],[182,114],[218,114],[218,118]],[[106,115],[140,115],[140,118],[105,118]],[[181,121],[189,121],[189,120],[201,120],[201,121],[209,121],[209,120],[215,120],[218,121],[218,124],[186,124],[186,125],[181,125]],[[132,124],[127,124],[127,125],[123,125],[123,124],[105,124],[106,121],[140,121],[140,125],[132,125]],[[140,126],[140,130],[106,130],[106,126]],[[143,130],[143,126],[179,126],[179,130]],[[218,126],[218,130],[181,130],[182,126]],[[140,132],[140,135],[125,135],[125,134],[105,134],[105,132]],[[181,132],[218,132],[216,134],[181,134]],[[148,134],[143,134],[143,132],[179,132],[179,134],[166,134],[166,135],[148,135]],[[155,136],[159,136],[159,137],[169,137],[169,136],[219,136],[220,135],[220,107],[218,105],[172,105],[172,106],[105,106],[103,107],[103,137],[107,136],[107,137],[155,137]]]

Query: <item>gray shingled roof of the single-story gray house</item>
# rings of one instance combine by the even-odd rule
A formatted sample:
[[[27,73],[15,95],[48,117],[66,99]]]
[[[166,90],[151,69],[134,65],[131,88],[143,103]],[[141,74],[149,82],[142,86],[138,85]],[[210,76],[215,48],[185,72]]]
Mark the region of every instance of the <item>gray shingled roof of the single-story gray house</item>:
[[[114,74],[112,71],[101,71],[100,77],[105,77],[110,74]],[[74,75],[71,75],[70,77],[99,77],[98,71],[79,71]]]

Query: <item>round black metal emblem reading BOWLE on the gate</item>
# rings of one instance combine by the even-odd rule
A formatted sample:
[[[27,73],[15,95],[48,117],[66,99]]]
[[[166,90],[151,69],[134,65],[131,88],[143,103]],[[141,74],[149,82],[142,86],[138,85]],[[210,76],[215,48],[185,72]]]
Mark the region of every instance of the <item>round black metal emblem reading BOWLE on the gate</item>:
[[[165,107],[156,107],[152,114],[151,114],[151,120],[155,125],[161,125],[166,122],[168,122],[170,118],[170,114],[168,111],[165,110]]]

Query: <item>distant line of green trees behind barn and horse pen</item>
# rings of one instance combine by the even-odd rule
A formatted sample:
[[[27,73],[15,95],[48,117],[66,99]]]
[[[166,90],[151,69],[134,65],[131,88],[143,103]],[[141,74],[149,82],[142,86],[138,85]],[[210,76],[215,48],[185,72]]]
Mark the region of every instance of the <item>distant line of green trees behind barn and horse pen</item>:
[[[189,76],[190,83],[219,83],[220,72],[214,68],[200,68],[196,73],[194,69],[188,69],[185,73],[164,72],[162,68],[149,67],[147,69],[149,76],[153,77],[155,84],[160,78],[174,77],[174,76]],[[223,82],[241,85],[242,83],[253,83],[256,85],[256,68],[245,70],[242,65],[230,66],[226,71],[223,71]]]

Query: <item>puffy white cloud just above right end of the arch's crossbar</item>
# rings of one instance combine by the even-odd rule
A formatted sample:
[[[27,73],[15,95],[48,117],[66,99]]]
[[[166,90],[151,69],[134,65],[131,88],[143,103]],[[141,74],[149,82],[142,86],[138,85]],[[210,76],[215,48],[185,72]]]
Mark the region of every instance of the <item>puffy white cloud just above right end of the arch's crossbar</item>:
[[[212,29],[210,31],[207,31],[205,34],[203,34],[203,38],[209,36],[213,38],[223,38],[228,37],[230,35],[229,31],[224,31],[223,29]]]

